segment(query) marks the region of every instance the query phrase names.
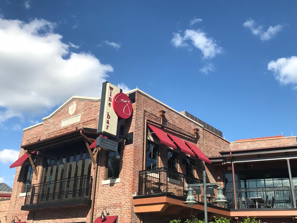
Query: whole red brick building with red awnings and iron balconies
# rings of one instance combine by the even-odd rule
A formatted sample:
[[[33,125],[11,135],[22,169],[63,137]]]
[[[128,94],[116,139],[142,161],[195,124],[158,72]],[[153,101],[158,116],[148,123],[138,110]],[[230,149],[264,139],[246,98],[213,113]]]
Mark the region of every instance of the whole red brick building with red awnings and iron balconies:
[[[100,98],[73,96],[41,123],[24,129],[19,160],[11,165],[16,167],[16,173],[7,222],[15,216],[27,223],[102,222],[103,209],[110,213],[106,223],[168,222],[170,218],[187,218],[191,214],[203,219],[201,195],[195,195],[198,204],[193,208],[183,204],[187,185],[201,182],[203,170],[207,181],[222,183],[230,200],[218,207],[213,203],[215,195],[207,191],[209,217],[239,219],[259,215],[295,222],[297,209],[293,201],[291,206],[287,204],[287,196],[279,199],[286,201],[277,211],[273,212],[271,204],[269,209],[267,202],[263,208],[259,205],[248,209],[243,196],[233,193],[241,187],[233,187],[226,179],[231,173],[239,177],[236,183],[240,185],[244,179],[238,171],[244,170],[247,178],[251,175],[247,171],[256,171],[255,166],[262,168],[263,162],[270,168],[275,157],[279,157],[284,169],[287,164],[280,160],[291,161],[290,179],[295,184],[294,188],[291,184],[283,186],[282,191],[289,195],[292,187],[296,193],[296,137],[228,142],[219,130],[139,89],[126,94],[131,99],[133,114],[120,121],[120,137],[114,140],[118,142],[118,151],[92,146],[99,136]],[[260,151],[260,157],[255,151]],[[244,159],[247,163],[254,160],[255,166],[246,168]],[[290,179],[284,174],[284,183]],[[252,185],[252,179],[247,180]],[[262,197],[265,199],[264,194]]]

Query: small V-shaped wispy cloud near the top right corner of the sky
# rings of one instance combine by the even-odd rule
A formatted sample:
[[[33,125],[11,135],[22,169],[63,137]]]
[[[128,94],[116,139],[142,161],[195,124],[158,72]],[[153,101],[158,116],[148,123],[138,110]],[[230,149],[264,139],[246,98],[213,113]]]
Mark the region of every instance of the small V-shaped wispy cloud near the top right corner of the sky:
[[[269,26],[266,31],[263,31],[263,26],[257,25],[252,19],[248,19],[245,23],[243,23],[243,26],[249,28],[252,33],[259,36],[262,41],[270,40],[282,30],[282,25],[278,24],[276,26]]]

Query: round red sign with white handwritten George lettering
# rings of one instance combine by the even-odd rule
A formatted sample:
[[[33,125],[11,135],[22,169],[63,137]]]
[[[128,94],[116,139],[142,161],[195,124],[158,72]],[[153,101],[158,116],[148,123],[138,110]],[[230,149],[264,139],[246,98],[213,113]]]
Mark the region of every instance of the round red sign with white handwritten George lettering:
[[[124,93],[114,95],[112,100],[114,112],[120,119],[127,119],[132,115],[132,103],[130,98]]]

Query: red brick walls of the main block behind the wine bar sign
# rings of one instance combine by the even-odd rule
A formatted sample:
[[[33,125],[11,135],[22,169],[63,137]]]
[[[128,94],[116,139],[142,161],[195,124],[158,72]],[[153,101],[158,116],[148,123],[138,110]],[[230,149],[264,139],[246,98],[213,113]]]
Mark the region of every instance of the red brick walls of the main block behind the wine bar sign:
[[[69,115],[68,108],[73,101],[76,103],[76,109],[74,114]],[[42,125],[25,130],[21,145],[37,142],[38,139],[43,140],[74,131],[75,127],[78,127],[78,129],[83,127],[97,128],[99,109],[100,101],[74,99],[62,107],[62,109],[52,117],[44,120]],[[102,181],[105,180],[107,152],[104,150],[99,152],[94,220],[100,216],[102,209],[106,208],[111,215],[119,216],[119,223],[140,222],[140,215],[134,213],[133,196],[135,196],[138,191],[138,174],[139,171],[142,170],[143,165],[144,120],[151,119],[160,122],[160,110],[166,111],[164,124],[173,129],[192,134],[193,129],[198,128],[199,137],[197,139],[184,137],[178,133],[173,134],[183,140],[196,144],[206,155],[217,156],[219,155],[218,151],[229,150],[228,141],[203,129],[203,127],[196,124],[194,121],[185,118],[170,108],[164,107],[162,104],[137,92],[136,103],[133,103],[133,116],[127,120],[121,121],[121,125],[123,125],[124,128],[123,134],[134,132],[134,141],[133,144],[123,146],[121,149],[119,183],[102,185]],[[63,119],[78,114],[81,114],[80,122],[61,128],[61,121]],[[23,154],[24,150],[21,148],[20,155]],[[167,149],[165,146],[161,146],[160,166],[167,165],[166,156]],[[184,157],[185,155],[183,153],[179,154],[180,162],[178,170],[182,173],[185,173],[185,168],[181,162],[181,159]],[[38,159],[41,159],[41,166],[37,180],[33,175],[32,184],[41,181],[44,153],[41,153],[41,158]],[[36,160],[36,164],[39,164],[38,159]],[[212,165],[206,164],[204,166],[204,162],[198,159],[195,160],[195,165],[195,177],[202,178],[202,170],[205,168],[208,180],[211,182],[215,181],[216,173]],[[94,176],[94,173],[95,169],[92,166],[91,175]],[[22,220],[26,220],[27,223],[54,222],[51,219],[58,219],[57,222],[62,223],[76,221],[89,222],[90,207],[39,210],[35,212],[20,211],[21,205],[24,204],[24,197],[19,197],[19,194],[23,192],[24,189],[23,177],[24,174],[21,172],[21,167],[17,167],[11,196],[11,207],[8,212],[9,221],[12,220],[12,216],[18,216]],[[148,218],[149,217],[146,217],[144,219]],[[151,222],[151,220],[144,220],[144,222]]]

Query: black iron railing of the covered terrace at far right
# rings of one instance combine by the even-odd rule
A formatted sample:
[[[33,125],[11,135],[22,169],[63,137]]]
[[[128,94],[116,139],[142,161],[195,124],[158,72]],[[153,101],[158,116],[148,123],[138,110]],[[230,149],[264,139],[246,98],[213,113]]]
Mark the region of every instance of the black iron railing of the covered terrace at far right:
[[[297,193],[297,186],[295,186],[294,193]],[[229,201],[229,203],[225,204],[225,208],[233,209],[233,189],[224,189],[224,195],[226,199]],[[257,203],[258,206],[256,207]],[[293,200],[291,196],[290,186],[238,188],[236,193],[236,204],[238,209],[293,208]]]

